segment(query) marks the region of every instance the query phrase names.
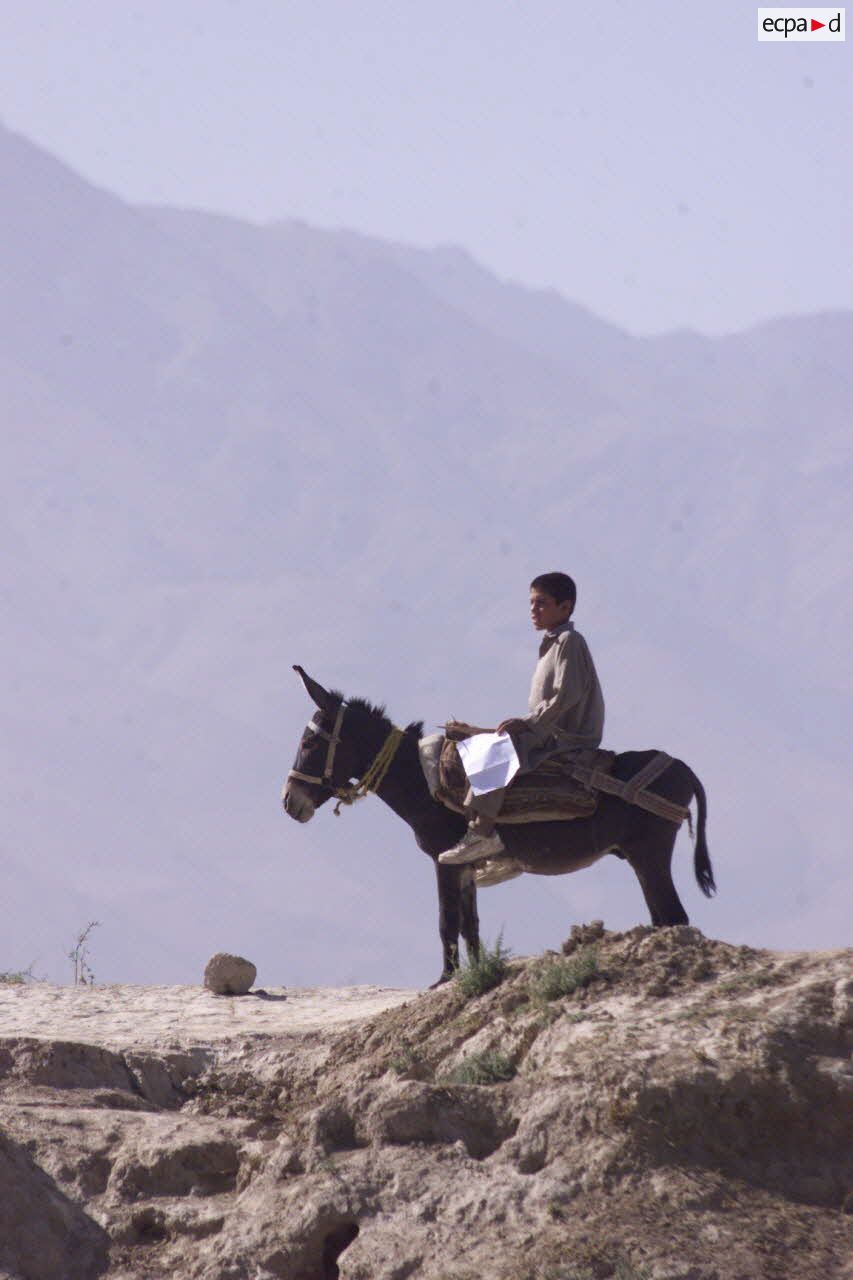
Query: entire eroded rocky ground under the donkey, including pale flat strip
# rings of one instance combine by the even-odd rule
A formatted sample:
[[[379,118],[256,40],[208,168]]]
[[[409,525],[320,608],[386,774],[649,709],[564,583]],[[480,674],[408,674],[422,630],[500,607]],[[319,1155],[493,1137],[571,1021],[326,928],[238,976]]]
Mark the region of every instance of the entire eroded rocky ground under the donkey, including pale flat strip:
[[[0,1277],[853,1277],[853,954],[564,951],[480,996],[0,986]]]

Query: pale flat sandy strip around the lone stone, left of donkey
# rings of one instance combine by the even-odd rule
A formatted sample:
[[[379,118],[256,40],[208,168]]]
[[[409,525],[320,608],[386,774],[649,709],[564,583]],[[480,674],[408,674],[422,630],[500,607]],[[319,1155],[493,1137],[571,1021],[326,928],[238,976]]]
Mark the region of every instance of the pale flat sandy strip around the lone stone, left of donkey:
[[[420,992],[392,987],[288,987],[214,996],[204,987],[0,984],[0,1039],[170,1048],[234,1038],[338,1030]]]

